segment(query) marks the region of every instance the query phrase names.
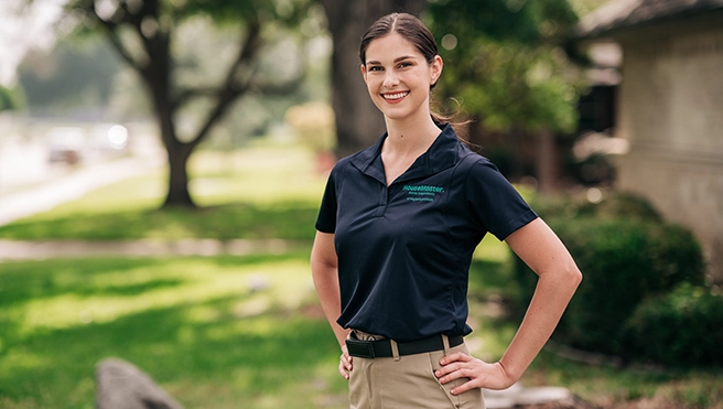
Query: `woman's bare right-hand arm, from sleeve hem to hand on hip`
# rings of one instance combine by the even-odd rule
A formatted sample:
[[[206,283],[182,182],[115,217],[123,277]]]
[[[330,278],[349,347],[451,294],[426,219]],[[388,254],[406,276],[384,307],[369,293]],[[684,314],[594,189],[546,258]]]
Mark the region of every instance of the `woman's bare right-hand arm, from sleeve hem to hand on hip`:
[[[443,384],[460,377],[471,380],[452,390],[505,389],[516,383],[542,349],[568,306],[582,275],[558,236],[537,218],[505,240],[538,276],[537,288],[515,338],[495,364],[464,354],[442,358],[438,377]]]

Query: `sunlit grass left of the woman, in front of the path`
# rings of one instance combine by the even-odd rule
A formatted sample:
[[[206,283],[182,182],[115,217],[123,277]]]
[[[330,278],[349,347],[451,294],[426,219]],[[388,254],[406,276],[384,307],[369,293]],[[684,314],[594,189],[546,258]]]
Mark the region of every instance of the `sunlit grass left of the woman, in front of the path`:
[[[91,408],[114,356],[188,408],[342,408],[306,257],[3,263],[0,407]]]

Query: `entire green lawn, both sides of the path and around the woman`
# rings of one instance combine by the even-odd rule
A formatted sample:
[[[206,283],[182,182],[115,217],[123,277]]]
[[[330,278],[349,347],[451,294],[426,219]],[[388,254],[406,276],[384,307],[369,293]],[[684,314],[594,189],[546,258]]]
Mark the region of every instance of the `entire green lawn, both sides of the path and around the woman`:
[[[110,356],[139,366],[187,408],[345,407],[338,347],[307,261],[325,176],[307,152],[268,144],[198,152],[191,173],[203,208],[158,211],[159,172],[2,226],[0,238],[288,238],[304,248],[0,263],[0,408],[93,408],[95,365]],[[473,262],[468,343],[484,359],[499,358],[514,336],[506,311],[524,308],[512,301],[509,261],[507,247],[486,238]],[[722,379],[543,351],[522,383],[569,387],[604,408],[723,409]]]

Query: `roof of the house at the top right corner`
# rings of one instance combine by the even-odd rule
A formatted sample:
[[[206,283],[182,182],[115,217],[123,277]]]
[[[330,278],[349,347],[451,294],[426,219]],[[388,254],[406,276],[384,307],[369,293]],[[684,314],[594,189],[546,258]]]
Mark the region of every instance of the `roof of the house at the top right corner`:
[[[613,0],[575,26],[578,39],[598,37],[621,29],[723,10],[723,0]]]

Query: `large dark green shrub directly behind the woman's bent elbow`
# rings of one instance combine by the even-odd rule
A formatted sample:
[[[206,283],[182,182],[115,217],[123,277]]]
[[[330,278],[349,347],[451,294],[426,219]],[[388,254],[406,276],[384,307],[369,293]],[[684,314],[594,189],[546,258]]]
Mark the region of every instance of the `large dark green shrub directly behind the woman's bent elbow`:
[[[582,349],[624,355],[624,324],[638,304],[680,283],[702,284],[704,271],[701,248],[689,230],[659,222],[645,202],[615,203],[581,206],[576,217],[548,219],[583,273],[553,337]],[[632,215],[619,215],[625,212]],[[527,303],[537,276],[517,258],[515,270]]]

